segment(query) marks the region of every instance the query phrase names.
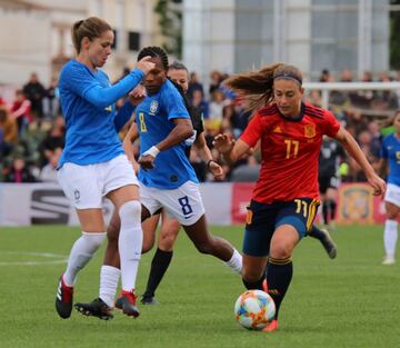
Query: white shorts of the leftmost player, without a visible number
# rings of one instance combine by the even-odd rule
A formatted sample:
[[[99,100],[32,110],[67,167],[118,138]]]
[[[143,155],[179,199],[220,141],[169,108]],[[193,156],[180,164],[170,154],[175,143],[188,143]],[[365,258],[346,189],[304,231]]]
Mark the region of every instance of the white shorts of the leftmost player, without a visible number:
[[[57,177],[76,209],[101,208],[102,198],[108,192],[128,185],[139,186],[126,155],[96,165],[79,166],[68,162],[58,170]]]

